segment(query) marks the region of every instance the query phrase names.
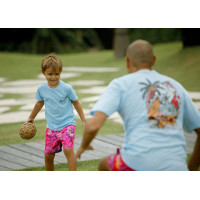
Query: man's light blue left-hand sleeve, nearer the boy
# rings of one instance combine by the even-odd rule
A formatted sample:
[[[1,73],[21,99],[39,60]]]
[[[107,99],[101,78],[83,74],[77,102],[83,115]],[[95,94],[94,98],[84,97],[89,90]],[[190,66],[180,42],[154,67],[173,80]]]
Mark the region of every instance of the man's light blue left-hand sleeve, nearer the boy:
[[[96,111],[100,111],[109,117],[112,113],[119,110],[120,101],[120,87],[117,81],[113,80],[92,108],[91,115],[94,115]]]

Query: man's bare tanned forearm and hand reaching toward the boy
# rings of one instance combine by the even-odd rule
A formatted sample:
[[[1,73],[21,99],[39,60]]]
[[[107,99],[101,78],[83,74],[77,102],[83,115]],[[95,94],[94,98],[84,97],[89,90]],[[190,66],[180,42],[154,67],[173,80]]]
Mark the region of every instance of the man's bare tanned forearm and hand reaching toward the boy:
[[[103,123],[107,119],[107,115],[103,112],[96,112],[94,117],[90,120],[90,122],[85,126],[84,133],[83,133],[83,140],[81,146],[76,152],[76,157],[80,158],[81,154],[87,150],[92,149],[90,146],[90,142],[95,138],[99,129],[103,125]]]

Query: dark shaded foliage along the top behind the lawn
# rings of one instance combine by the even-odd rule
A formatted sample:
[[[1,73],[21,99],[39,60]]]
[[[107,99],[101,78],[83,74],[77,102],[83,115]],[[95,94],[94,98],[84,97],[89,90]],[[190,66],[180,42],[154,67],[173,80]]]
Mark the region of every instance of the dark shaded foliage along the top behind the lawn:
[[[114,28],[1,28],[0,51],[42,54],[113,49]],[[181,41],[180,28],[129,28],[130,41]]]

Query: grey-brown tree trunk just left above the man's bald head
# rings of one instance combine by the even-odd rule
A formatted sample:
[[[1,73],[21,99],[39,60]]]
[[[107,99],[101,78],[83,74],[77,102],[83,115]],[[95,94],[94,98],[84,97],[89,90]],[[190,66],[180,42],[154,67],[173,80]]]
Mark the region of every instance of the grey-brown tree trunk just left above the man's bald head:
[[[114,55],[116,58],[122,58],[126,55],[129,42],[128,28],[116,28],[114,36]]]

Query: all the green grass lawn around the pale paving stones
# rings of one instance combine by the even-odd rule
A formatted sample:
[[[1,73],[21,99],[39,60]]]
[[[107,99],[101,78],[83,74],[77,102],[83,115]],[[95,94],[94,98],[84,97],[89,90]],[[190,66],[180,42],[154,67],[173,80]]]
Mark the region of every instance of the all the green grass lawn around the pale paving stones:
[[[189,91],[200,91],[200,47],[191,47],[183,49],[180,42],[157,44],[154,45],[154,53],[157,61],[153,69],[162,74],[171,76],[179,81]],[[63,66],[85,66],[85,67],[119,67],[118,72],[112,73],[83,73],[81,77],[66,79],[64,81],[76,80],[103,80],[107,85],[113,78],[122,76],[127,73],[125,60],[115,59],[113,51],[87,52],[77,54],[61,54],[59,55]],[[0,77],[6,78],[7,81],[20,79],[36,79],[40,74],[41,60],[45,55],[29,55],[19,53],[0,54]],[[74,87],[75,90],[79,89]],[[81,88],[84,88],[82,86]],[[78,94],[81,98],[89,97],[90,94]],[[22,98],[18,94],[5,94],[0,99]],[[82,106],[87,108],[89,103]],[[7,112],[18,111],[20,106],[13,106]],[[82,136],[83,128],[79,119],[77,122],[77,137]],[[44,140],[45,120],[35,121],[38,132],[31,141]],[[15,143],[24,143],[18,134],[18,128],[21,123],[0,124],[0,145],[9,145]],[[107,120],[99,134],[118,134],[123,132],[123,126]],[[94,161],[94,163],[97,161]],[[84,170],[80,162],[80,170]],[[87,163],[87,162],[86,162]],[[91,163],[91,166],[89,166]],[[88,161],[88,169],[93,170],[93,161]],[[96,165],[96,164],[95,164]],[[65,168],[58,165],[58,170]],[[41,169],[42,170],[42,169]]]

